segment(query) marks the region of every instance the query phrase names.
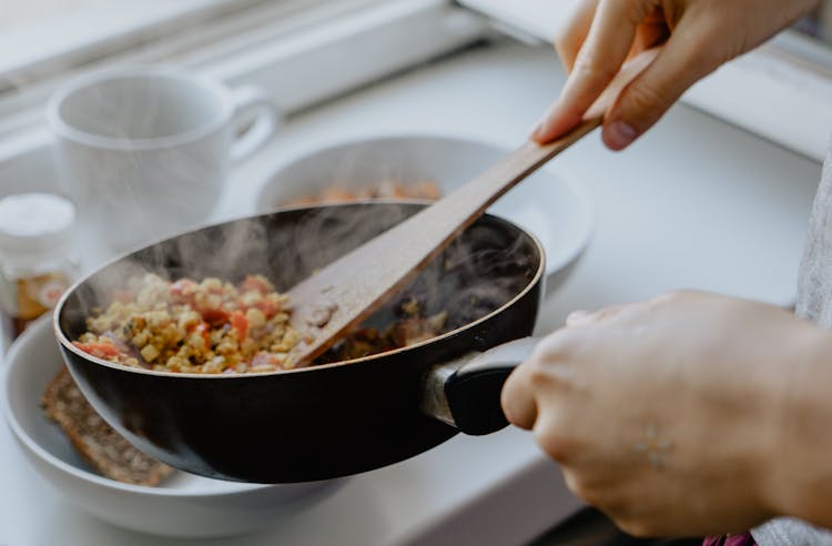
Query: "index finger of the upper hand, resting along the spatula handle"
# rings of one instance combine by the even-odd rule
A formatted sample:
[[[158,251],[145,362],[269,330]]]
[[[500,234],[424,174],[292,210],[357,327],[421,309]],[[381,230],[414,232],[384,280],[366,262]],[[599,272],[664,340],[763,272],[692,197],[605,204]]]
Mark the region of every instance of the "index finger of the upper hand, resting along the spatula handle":
[[[600,0],[560,98],[532,133],[534,140],[549,142],[581,121],[621,68],[636,29],[652,10],[651,3],[650,0]],[[565,54],[569,52],[565,50]]]

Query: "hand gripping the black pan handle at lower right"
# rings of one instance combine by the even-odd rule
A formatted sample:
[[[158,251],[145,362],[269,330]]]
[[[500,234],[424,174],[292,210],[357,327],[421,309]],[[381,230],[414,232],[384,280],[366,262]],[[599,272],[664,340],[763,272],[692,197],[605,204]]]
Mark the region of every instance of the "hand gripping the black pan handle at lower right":
[[[699,292],[576,313],[509,377],[503,407],[622,529],[744,530],[782,509],[781,413],[819,332]]]

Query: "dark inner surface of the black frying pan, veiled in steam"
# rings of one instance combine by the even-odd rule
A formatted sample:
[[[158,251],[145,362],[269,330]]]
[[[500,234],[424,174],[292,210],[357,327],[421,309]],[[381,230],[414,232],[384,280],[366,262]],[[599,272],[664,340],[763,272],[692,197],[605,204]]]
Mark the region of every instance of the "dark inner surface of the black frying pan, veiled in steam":
[[[283,211],[153,244],[83,283],[68,304],[68,333],[73,336],[83,332],[83,320],[90,313],[109,304],[113,292],[124,289],[128,280],[146,273],[170,280],[214,276],[230,282],[263,274],[278,291],[286,291],[419,208],[359,203]],[[446,330],[461,327],[519,293],[531,280],[537,263],[534,244],[522,232],[509,230],[499,221],[479,222],[365,325],[386,328],[402,316],[402,302],[415,300],[423,316],[447,311]]]

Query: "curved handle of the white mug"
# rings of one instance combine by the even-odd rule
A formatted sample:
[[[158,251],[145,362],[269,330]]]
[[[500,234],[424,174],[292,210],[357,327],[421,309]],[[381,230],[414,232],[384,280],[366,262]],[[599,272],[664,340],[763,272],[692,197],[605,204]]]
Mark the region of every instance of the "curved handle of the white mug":
[[[262,88],[245,85],[234,93],[234,122],[237,130],[250,123],[247,129],[234,138],[231,145],[231,161],[239,163],[263,148],[277,131],[280,114],[277,108]]]

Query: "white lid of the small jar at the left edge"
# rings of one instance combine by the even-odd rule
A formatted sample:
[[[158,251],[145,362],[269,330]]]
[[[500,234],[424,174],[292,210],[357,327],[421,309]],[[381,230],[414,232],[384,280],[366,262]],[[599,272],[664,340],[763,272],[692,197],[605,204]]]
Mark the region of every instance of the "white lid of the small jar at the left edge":
[[[17,193],[0,200],[0,251],[30,254],[70,241],[75,208],[51,193]]]

